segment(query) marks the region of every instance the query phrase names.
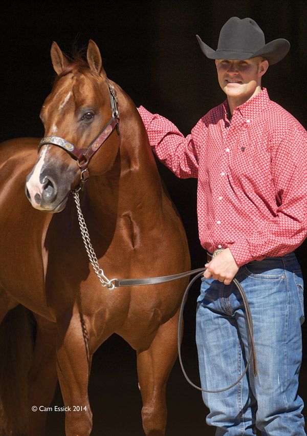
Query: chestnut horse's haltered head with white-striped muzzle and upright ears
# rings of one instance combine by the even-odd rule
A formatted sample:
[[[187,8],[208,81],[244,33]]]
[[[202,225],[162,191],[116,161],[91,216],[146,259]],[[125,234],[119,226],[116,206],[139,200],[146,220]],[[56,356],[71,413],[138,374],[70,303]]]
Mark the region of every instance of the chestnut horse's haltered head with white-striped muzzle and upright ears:
[[[81,58],[69,63],[58,45],[52,44],[51,59],[57,77],[41,109],[45,137],[26,181],[29,201],[42,211],[63,210],[80,177],[83,182],[89,174],[108,171],[118,152],[118,136],[111,135],[117,125],[117,98],[92,40],[86,58],[87,63]],[[99,158],[102,154],[103,159]]]

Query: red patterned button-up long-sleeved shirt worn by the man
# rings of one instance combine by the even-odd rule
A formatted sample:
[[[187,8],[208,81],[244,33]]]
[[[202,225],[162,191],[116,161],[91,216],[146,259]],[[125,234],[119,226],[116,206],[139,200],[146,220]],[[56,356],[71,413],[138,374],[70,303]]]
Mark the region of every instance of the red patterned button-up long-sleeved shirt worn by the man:
[[[307,231],[307,132],[262,89],[227,118],[227,100],[186,138],[142,106],[153,151],[177,177],[198,178],[198,224],[209,252],[237,264],[283,256]]]

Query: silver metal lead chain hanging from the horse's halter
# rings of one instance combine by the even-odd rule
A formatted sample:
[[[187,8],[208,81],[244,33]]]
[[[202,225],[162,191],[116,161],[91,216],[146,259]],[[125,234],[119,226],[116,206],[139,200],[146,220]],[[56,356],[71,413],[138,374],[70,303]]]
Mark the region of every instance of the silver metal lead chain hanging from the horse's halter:
[[[81,231],[81,236],[84,242],[84,246],[85,246],[85,250],[87,253],[87,256],[89,256],[90,262],[93,266],[93,269],[97,275],[97,277],[99,278],[100,283],[102,284],[102,286],[107,287],[108,289],[113,290],[115,288],[114,283],[112,283],[114,280],[116,279],[112,279],[109,280],[103,272],[103,269],[100,268],[98,260],[97,260],[97,256],[94,252],[94,248],[91,244],[91,239],[90,239],[90,235],[89,235],[89,231],[87,230],[83,215],[82,215],[82,211],[81,211],[81,206],[80,206],[80,198],[79,198],[79,190],[73,190],[73,196],[75,199],[75,203],[76,203],[76,207],[77,207],[77,212],[78,212],[78,221],[79,221],[79,226],[80,226],[80,231]]]

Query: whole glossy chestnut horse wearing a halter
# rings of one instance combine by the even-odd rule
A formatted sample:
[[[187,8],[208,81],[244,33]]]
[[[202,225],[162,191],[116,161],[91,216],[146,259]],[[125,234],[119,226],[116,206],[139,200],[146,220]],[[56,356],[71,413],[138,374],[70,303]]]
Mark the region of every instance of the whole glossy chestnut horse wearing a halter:
[[[18,379],[12,377],[18,386],[21,381],[29,385],[28,399],[26,389],[17,390],[18,407],[26,411],[16,412],[16,391],[7,372],[0,375],[1,434],[45,434],[46,410],[58,380],[65,410],[83,406],[81,412],[65,414],[65,433],[89,435],[92,357],[116,333],[136,350],[144,433],[163,435],[166,382],[178,355],[178,316],[187,279],[124,288],[107,280],[102,286],[87,257],[70,193],[82,187],[82,214],[108,277],[187,271],[184,228],[160,179],[137,108],[106,77],[94,41],[89,41],[86,60],[69,59],[53,43],[51,60],[56,78],[40,112],[43,140],[18,138],[0,146],[0,322],[4,320],[1,328],[7,324],[5,341],[17,331],[7,348],[16,354],[19,345],[18,359],[28,362]],[[103,143],[97,142],[102,136]],[[32,358],[32,330],[24,327],[29,320],[23,315],[23,323],[16,321],[20,305],[36,320]],[[10,317],[12,309],[19,310],[15,317]],[[28,354],[26,345],[20,346],[24,337]],[[7,349],[2,371],[11,365],[9,359]],[[46,410],[27,416],[35,404]],[[28,420],[17,423],[18,429],[16,413]]]

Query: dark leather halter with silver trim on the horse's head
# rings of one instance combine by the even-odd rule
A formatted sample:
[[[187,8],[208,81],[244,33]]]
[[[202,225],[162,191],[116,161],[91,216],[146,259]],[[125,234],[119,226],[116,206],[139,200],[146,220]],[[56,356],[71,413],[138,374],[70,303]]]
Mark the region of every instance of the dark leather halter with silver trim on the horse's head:
[[[73,159],[77,161],[78,167],[81,170],[79,185],[81,188],[83,184],[90,178],[89,169],[87,167],[89,166],[90,160],[92,159],[94,154],[100,149],[102,144],[112,134],[115,128],[117,130],[117,134],[119,135],[118,98],[114,86],[111,85],[108,80],[107,84],[110,91],[112,118],[103,127],[98,136],[90,143],[89,147],[87,147],[86,149],[78,149],[76,146],[74,146],[74,144],[59,136],[44,136],[38,144],[38,151],[41,149],[42,146],[45,146],[47,144],[61,147],[63,150],[69,153]]]

